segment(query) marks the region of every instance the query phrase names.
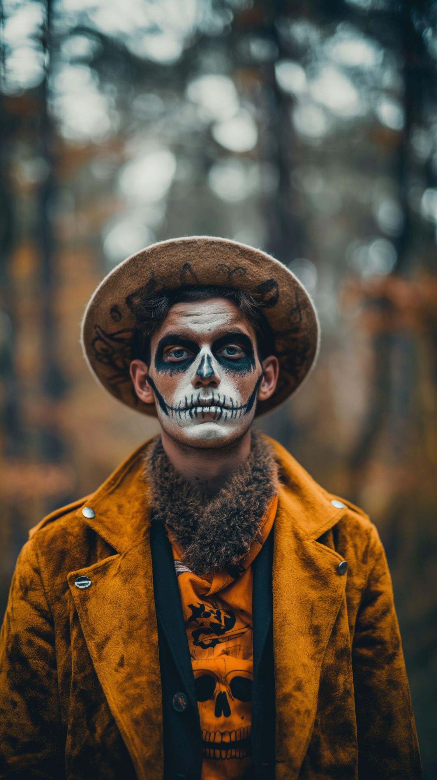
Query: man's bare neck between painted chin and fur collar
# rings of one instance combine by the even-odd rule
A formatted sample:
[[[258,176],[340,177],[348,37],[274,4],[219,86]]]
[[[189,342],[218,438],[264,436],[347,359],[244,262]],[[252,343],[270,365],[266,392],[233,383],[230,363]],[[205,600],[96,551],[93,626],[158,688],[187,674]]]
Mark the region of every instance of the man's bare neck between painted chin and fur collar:
[[[250,429],[227,447],[196,449],[179,444],[161,429],[164,452],[176,471],[208,497],[218,493],[250,452]]]

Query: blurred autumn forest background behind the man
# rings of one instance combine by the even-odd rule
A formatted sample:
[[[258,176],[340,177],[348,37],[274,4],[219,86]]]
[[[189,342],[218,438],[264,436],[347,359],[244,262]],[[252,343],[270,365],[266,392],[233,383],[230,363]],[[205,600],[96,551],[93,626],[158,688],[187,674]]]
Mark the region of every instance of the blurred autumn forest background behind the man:
[[[31,526],[157,431],[94,384],[79,321],[155,240],[272,253],[322,350],[260,425],[386,545],[437,777],[437,3],[3,0],[0,590]]]

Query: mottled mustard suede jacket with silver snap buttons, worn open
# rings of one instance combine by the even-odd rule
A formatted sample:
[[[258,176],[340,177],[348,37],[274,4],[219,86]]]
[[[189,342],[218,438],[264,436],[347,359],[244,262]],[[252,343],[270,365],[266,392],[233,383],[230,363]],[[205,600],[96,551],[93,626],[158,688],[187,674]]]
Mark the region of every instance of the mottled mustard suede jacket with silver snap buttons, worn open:
[[[378,533],[272,443],[276,780],[421,778]],[[163,777],[148,447],[46,517],[19,555],[0,644],[0,778]]]

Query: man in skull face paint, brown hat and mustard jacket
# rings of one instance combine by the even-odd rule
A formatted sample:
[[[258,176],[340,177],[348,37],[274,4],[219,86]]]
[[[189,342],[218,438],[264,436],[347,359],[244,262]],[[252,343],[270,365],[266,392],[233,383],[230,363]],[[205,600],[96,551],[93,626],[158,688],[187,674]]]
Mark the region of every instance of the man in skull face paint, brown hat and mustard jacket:
[[[224,239],[150,246],[97,288],[90,370],[161,433],[30,532],[1,778],[421,777],[377,531],[251,431],[317,346],[298,280]]]

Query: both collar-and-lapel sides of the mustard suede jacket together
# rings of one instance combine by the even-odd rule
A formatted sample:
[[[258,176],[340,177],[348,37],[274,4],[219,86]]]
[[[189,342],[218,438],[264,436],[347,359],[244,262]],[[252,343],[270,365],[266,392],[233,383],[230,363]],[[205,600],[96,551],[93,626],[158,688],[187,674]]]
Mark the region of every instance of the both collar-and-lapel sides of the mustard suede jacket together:
[[[162,776],[162,703],[153,598],[147,441],[93,495],[78,515],[117,551],[69,574],[69,585],[94,668],[140,780]],[[286,450],[272,441],[281,485],[273,551],[273,651],[280,776],[298,777],[314,724],[322,658],[344,599],[341,558],[319,544],[345,509]],[[83,508],[83,505],[82,505]],[[78,590],[77,576],[92,587]],[[143,735],[153,734],[147,743]]]

